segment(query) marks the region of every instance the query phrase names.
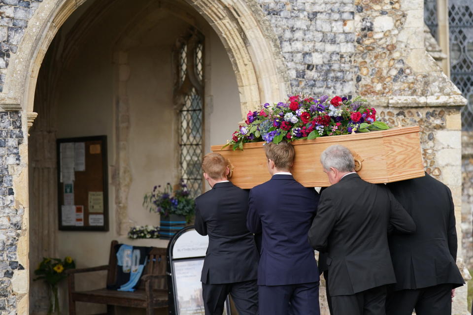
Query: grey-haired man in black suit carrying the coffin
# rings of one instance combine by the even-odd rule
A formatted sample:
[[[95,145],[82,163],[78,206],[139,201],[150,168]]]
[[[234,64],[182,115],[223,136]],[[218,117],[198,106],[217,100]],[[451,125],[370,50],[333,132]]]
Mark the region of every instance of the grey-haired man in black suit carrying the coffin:
[[[312,247],[327,252],[334,315],[382,315],[386,284],[396,282],[388,248],[388,223],[413,233],[415,224],[385,185],[355,173],[351,152],[327,148],[320,160],[332,186],[320,197],[308,232]]]

